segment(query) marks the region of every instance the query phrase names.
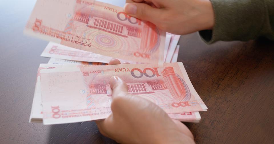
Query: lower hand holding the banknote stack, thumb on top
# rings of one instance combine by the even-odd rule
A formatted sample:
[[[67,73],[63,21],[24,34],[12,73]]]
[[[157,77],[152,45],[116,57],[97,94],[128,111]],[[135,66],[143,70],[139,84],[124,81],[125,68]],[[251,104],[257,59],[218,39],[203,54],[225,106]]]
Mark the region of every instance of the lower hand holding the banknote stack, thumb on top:
[[[117,59],[109,63],[120,64]],[[128,93],[126,83],[119,77],[110,79],[112,114],[96,121],[100,132],[118,143],[194,143],[190,130],[172,120],[159,106]]]

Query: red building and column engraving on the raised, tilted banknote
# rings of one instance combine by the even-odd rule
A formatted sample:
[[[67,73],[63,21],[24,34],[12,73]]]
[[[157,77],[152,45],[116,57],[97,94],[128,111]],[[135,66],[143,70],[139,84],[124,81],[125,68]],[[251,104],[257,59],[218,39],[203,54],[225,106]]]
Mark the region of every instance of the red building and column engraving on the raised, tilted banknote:
[[[86,26],[89,28],[126,38],[129,36],[138,37],[141,39],[140,50],[144,54],[154,53],[158,50],[160,46],[160,33],[158,28],[151,22],[142,22],[137,18],[126,15],[124,12],[117,12],[116,18],[102,18],[99,16],[101,15],[96,10],[92,10],[92,5],[90,5],[78,9],[73,19],[86,23]],[[126,25],[124,21],[128,21],[130,24],[135,24],[136,26]]]

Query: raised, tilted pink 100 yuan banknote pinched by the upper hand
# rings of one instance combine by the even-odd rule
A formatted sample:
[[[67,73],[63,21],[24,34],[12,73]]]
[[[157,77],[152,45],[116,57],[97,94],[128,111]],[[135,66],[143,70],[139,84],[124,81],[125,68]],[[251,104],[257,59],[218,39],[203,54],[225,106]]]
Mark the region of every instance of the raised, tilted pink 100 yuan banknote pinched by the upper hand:
[[[25,34],[109,57],[162,65],[166,33],[122,7],[93,0],[37,0]]]

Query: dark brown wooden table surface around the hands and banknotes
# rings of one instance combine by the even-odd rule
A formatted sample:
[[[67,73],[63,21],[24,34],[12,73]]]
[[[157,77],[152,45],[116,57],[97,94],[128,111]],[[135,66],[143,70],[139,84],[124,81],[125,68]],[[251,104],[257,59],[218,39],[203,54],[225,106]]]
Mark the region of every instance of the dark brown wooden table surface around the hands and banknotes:
[[[35,0],[0,5],[0,143],[115,143],[94,122],[43,126],[28,122],[36,72],[47,42],[23,35]],[[197,143],[274,143],[274,42],[204,44],[182,36],[180,55],[208,106],[186,123]]]

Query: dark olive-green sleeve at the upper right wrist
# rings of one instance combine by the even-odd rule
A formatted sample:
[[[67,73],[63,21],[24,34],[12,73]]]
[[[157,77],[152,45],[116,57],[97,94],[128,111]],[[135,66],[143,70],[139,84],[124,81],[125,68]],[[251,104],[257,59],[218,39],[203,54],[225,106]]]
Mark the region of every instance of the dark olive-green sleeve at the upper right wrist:
[[[211,0],[213,30],[199,32],[212,44],[216,41],[248,41],[258,37],[274,40],[274,0]]]

